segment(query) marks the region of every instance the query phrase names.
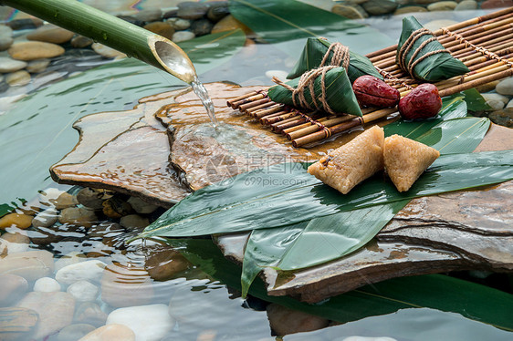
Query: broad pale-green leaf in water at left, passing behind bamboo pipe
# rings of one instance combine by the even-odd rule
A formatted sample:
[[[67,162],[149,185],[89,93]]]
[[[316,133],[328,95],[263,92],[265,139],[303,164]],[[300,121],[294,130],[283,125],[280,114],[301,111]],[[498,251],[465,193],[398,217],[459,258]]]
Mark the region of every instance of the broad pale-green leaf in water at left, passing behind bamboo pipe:
[[[244,46],[240,30],[181,43],[198,73],[224,63]],[[48,169],[78,141],[71,129],[99,111],[131,109],[141,97],[183,87],[180,80],[139,60],[125,59],[60,81],[20,100],[0,116],[0,203],[29,199],[50,185]]]

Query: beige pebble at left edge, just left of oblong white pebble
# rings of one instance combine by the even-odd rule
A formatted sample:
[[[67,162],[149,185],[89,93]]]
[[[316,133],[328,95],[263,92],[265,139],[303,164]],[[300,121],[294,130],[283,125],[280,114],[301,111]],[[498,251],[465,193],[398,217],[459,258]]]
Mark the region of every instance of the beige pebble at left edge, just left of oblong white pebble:
[[[17,274],[27,281],[36,281],[52,274],[53,270],[53,254],[46,250],[13,253],[0,259],[0,276]]]

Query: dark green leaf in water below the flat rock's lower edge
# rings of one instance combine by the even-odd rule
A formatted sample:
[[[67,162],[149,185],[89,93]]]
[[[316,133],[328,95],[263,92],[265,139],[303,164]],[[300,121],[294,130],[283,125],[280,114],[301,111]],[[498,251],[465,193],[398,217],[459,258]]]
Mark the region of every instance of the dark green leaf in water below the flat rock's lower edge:
[[[192,263],[211,276],[240,288],[240,267],[227,261],[212,241],[182,239],[168,240],[168,243],[180,247],[180,251]],[[269,296],[259,279],[252,285],[250,294],[340,323],[390,314],[404,308],[429,307],[513,330],[513,320],[510,318],[513,295],[442,274],[395,278],[331,297],[317,305],[301,303],[288,296]],[[501,335],[498,330],[497,333]]]

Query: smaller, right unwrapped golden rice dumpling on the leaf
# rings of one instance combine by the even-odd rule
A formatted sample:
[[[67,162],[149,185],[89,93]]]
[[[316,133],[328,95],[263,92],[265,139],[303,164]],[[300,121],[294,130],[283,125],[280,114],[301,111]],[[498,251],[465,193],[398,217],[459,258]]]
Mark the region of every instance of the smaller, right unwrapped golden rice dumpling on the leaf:
[[[440,152],[424,143],[393,135],[384,140],[383,156],[385,170],[397,191],[408,191]]]

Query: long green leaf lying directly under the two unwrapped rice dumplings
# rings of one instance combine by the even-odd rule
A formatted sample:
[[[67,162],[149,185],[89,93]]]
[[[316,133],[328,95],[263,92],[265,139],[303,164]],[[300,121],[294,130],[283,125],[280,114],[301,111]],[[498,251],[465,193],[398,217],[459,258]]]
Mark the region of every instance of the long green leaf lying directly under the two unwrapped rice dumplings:
[[[410,191],[400,193],[392,182],[383,181],[377,175],[346,195],[312,180],[298,163],[278,164],[273,171],[243,173],[229,184],[196,191],[165,212],[138,238],[187,237],[286,226],[338,212],[508,181],[513,179],[512,164],[513,150],[444,155],[434,161]],[[255,180],[259,184],[251,182]],[[269,189],[263,183],[277,186]],[[280,183],[289,186],[284,188]],[[217,202],[216,198],[222,199]]]

